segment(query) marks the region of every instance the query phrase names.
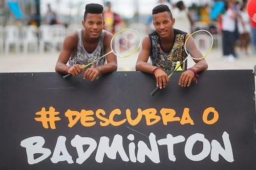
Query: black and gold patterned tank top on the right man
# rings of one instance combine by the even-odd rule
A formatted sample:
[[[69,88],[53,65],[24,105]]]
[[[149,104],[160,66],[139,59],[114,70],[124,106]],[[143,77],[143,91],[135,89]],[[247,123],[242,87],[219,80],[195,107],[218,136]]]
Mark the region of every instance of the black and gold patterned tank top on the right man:
[[[151,34],[148,34],[151,40],[151,53],[150,53],[150,59],[152,62],[152,65],[161,67],[166,71],[174,70],[176,66],[176,62],[184,61],[184,59],[187,57],[187,54],[184,49],[184,43],[185,43],[185,36],[187,33],[174,29],[174,45],[172,47],[172,50],[170,52],[165,53],[162,50],[161,47],[161,41],[160,37],[157,34],[156,31],[152,32]],[[187,69],[187,62],[181,64],[182,70]]]

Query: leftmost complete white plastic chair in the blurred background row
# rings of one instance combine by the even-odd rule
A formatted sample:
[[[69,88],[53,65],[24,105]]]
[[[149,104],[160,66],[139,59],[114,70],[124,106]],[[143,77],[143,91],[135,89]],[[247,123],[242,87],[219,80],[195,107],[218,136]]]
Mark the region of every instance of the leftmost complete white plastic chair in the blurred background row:
[[[19,52],[19,29],[17,26],[6,26],[5,27],[5,53],[10,52],[10,45],[15,46],[15,52]]]

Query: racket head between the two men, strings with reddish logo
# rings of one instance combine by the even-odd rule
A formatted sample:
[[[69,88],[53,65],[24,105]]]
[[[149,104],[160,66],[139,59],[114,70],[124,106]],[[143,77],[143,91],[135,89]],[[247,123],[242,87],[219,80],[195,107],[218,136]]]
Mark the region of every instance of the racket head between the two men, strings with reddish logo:
[[[140,47],[141,38],[137,31],[126,29],[116,33],[111,39],[111,50],[121,58],[133,55]]]

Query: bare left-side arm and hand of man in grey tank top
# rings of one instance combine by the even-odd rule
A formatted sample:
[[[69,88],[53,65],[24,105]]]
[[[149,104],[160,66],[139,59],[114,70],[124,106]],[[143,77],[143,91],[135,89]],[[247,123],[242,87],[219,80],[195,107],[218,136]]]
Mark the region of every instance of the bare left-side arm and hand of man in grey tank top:
[[[55,65],[55,71],[60,72],[62,74],[66,73],[66,68],[68,67],[66,64],[69,61],[70,55],[75,50],[77,46],[77,33],[74,32],[71,35],[67,36],[63,42],[63,48],[59,54],[59,58]],[[81,65],[76,64],[68,69],[68,73],[72,74],[72,76],[76,76],[83,71]]]

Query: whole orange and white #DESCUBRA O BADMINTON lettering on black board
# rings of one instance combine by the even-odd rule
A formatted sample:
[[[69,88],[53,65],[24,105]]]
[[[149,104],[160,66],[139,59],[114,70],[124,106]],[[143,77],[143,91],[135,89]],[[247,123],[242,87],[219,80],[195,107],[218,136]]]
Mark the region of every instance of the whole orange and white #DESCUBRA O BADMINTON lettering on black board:
[[[121,109],[114,109],[110,114],[106,114],[103,109],[98,109],[95,112],[92,110],[82,109],[81,111],[75,111],[68,109],[65,112],[65,116],[68,117],[69,124],[68,127],[73,127],[76,125],[78,120],[84,127],[92,127],[99,123],[100,126],[120,126],[126,123],[129,126],[127,130],[131,131],[127,136],[115,134],[113,137],[101,136],[100,138],[94,139],[90,136],[81,137],[78,134],[74,134],[73,139],[68,137],[72,147],[76,149],[77,155],[70,155],[69,150],[66,148],[66,136],[58,136],[56,138],[55,149],[46,148],[45,138],[42,136],[32,136],[28,137],[20,142],[20,146],[26,148],[27,161],[29,164],[36,164],[41,161],[44,161],[50,155],[52,163],[58,162],[68,162],[69,164],[78,163],[82,164],[87,161],[88,158],[95,156],[95,161],[102,163],[105,159],[117,159],[117,154],[124,162],[145,162],[145,157],[147,156],[154,163],[160,163],[161,157],[159,154],[160,148],[167,147],[168,159],[169,161],[176,161],[176,152],[174,147],[180,147],[179,143],[184,143],[185,157],[191,161],[202,161],[210,159],[214,162],[218,162],[219,156],[221,155],[227,162],[233,162],[233,152],[232,145],[229,140],[229,134],[226,131],[221,132],[222,141],[219,142],[215,139],[207,139],[202,133],[194,133],[190,136],[183,135],[172,135],[169,132],[164,136],[156,136],[153,132],[148,132],[142,134],[136,130],[132,129],[132,126],[137,125],[140,122],[145,122],[147,126],[154,125],[161,122],[163,126],[166,126],[170,122],[180,123],[181,125],[191,125],[193,126],[194,120],[189,114],[189,108],[184,108],[182,116],[176,115],[175,109],[172,108],[162,108],[159,112],[155,108],[147,108],[137,110],[137,117],[132,119],[130,109],[126,109],[125,112],[122,112]],[[50,123],[51,129],[55,129],[55,122],[60,120],[58,115],[59,112],[55,111],[54,107],[50,107],[49,111],[46,111],[45,107],[41,108],[41,111],[36,112],[35,120],[42,123],[42,126],[48,129],[48,123]],[[122,115],[124,114],[124,115]],[[198,113],[195,113],[198,114]],[[194,115],[194,114],[193,114]],[[126,118],[124,118],[126,117]],[[142,118],[145,118],[145,121],[141,121]],[[97,122],[98,119],[98,122]],[[212,125],[218,122],[219,113],[214,107],[208,107],[204,109],[202,114],[202,120],[206,125]],[[115,121],[116,120],[116,121]],[[117,121],[118,120],[118,121]],[[131,126],[130,126],[131,125]],[[140,133],[141,135],[146,136],[145,140],[139,140],[136,142],[135,135],[133,133]],[[112,142],[111,142],[112,141]],[[199,142],[198,142],[199,141]],[[123,143],[129,143],[129,145]],[[195,143],[202,143],[202,150],[199,154],[193,154]],[[224,144],[224,147],[220,143]],[[84,145],[87,149],[84,151]],[[125,148],[127,147],[127,148]],[[136,149],[137,148],[137,149]],[[135,150],[136,149],[136,150]],[[129,153],[126,151],[129,150]],[[181,151],[180,150],[180,151]],[[72,152],[73,153],[73,152]],[[40,154],[39,157],[35,157],[35,154]],[[77,157],[78,156],[78,157]],[[73,159],[76,157],[76,162]],[[87,161],[88,162],[88,161]]]

